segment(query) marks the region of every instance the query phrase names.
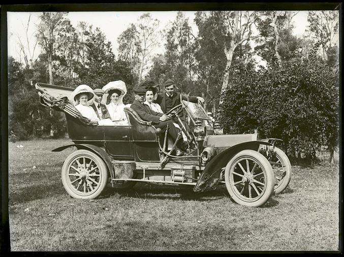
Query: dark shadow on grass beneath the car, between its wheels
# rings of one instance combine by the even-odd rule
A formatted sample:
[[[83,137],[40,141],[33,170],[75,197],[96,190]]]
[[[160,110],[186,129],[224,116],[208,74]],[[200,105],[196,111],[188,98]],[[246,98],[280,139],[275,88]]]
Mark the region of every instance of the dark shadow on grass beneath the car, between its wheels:
[[[114,189],[108,186],[102,196],[110,198],[113,193],[122,197],[144,198],[144,199],[169,199],[169,200],[186,200],[186,201],[214,201],[229,197],[225,195],[222,188],[213,191],[194,192],[193,186],[178,185],[151,185],[136,184],[130,189]]]

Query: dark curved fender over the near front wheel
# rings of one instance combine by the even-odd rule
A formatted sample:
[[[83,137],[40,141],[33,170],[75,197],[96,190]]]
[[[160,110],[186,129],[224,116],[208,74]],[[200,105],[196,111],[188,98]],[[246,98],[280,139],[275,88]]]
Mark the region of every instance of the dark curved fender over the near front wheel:
[[[220,174],[222,168],[224,168],[230,159],[238,152],[245,149],[252,149],[259,151],[260,145],[271,145],[264,141],[248,141],[241,144],[232,146],[223,152],[217,154],[210,162],[207,164],[203,170],[197,184],[194,187],[195,192],[204,192],[215,189],[218,180],[220,180]],[[216,149],[216,147],[215,147]]]

